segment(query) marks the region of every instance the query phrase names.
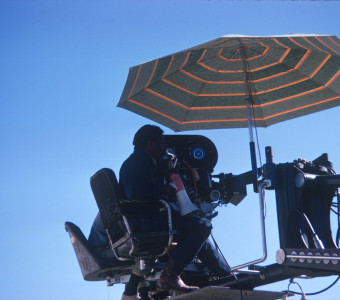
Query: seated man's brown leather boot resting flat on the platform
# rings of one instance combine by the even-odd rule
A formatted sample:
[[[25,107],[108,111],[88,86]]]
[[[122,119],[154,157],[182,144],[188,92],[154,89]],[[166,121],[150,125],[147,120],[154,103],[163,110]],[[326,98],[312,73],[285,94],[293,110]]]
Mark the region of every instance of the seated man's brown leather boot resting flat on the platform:
[[[161,289],[173,289],[180,293],[190,293],[198,290],[196,286],[186,285],[179,274],[183,270],[183,265],[170,258],[165,265],[158,281],[158,286]]]

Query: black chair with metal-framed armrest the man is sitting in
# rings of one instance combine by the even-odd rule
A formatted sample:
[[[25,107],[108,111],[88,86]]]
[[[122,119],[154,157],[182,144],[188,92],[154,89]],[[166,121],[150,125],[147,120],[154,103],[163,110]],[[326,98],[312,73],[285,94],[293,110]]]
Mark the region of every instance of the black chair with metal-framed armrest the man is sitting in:
[[[127,200],[121,203],[117,178],[108,168],[96,172],[90,184],[111,248],[119,260],[164,255],[172,241],[168,205]],[[117,226],[119,234],[115,234]]]

